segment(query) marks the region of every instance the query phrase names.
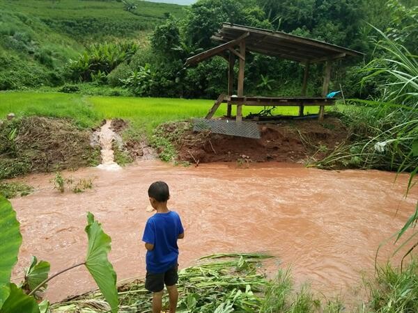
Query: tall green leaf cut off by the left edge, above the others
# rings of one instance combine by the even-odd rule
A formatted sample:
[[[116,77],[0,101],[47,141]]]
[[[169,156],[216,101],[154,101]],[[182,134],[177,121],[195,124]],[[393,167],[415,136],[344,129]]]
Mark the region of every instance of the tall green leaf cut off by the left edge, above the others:
[[[10,275],[22,243],[19,226],[12,204],[0,195],[0,308],[9,296]]]

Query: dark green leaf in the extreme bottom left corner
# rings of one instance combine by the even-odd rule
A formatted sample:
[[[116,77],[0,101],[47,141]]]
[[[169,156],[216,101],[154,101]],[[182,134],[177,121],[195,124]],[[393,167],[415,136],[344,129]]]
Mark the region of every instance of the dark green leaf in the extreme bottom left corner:
[[[22,289],[15,284],[10,284],[10,295],[8,296],[0,313],[40,313],[35,298],[26,295]]]

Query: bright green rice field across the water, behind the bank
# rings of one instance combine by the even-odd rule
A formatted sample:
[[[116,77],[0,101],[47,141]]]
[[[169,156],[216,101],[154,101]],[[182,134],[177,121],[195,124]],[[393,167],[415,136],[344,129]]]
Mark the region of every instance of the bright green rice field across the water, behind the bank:
[[[99,97],[65,93],[3,92],[0,93],[0,118],[10,112],[22,115],[38,115],[72,118],[80,127],[95,127],[104,118],[130,120],[135,129],[148,134],[163,122],[202,118],[208,113],[214,100],[169,99],[138,97]],[[258,112],[263,107],[247,106],[243,115]],[[316,107],[309,110],[316,111]],[[307,111],[309,111],[307,110]],[[297,107],[280,107],[275,114],[296,115]],[[215,116],[226,113],[222,105]]]

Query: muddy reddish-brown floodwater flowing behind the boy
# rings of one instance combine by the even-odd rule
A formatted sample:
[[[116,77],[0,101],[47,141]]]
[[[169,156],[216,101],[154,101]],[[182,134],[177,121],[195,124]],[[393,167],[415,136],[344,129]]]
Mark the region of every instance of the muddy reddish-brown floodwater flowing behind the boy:
[[[52,174],[31,175],[24,182],[36,192],[12,200],[23,234],[15,278],[31,255],[48,260],[52,273],[82,262],[86,211],[111,236],[110,260],[118,280],[143,276],[141,235],[150,216],[146,191],[151,182],[164,180],[171,187],[169,207],[185,226],[181,267],[215,252],[269,252],[277,257],[267,266],[270,275],[291,266],[296,282],[309,281],[327,296],[345,295],[359,285],[362,271],[373,272],[379,243],[405,223],[418,198],[417,188],[403,197],[408,175],[394,182],[390,172],[283,163],[183,168],[143,161],[116,172],[85,168],[64,174],[95,177],[95,186],[82,194],[61,194],[52,189]],[[387,245],[380,260],[391,250]],[[52,280],[46,296],[57,301],[94,288],[86,270],[76,268]]]

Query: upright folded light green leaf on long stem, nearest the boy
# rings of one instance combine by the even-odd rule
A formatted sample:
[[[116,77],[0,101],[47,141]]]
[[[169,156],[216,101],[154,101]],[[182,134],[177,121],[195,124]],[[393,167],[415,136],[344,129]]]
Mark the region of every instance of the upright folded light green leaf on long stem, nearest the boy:
[[[111,312],[118,312],[116,273],[107,259],[107,252],[111,250],[111,238],[103,232],[101,224],[94,219],[90,212],[87,214],[86,233],[88,236],[86,268],[109,303]]]

